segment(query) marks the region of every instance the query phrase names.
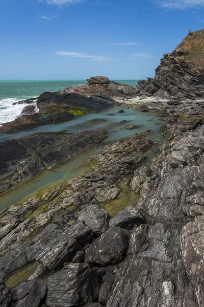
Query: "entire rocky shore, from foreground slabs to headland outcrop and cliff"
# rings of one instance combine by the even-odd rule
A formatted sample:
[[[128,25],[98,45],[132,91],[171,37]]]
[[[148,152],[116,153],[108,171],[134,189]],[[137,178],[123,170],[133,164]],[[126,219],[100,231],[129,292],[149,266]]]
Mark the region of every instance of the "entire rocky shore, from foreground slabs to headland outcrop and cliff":
[[[103,148],[89,171],[0,212],[1,307],[203,307],[203,48],[204,30],[189,32],[136,87],[96,76],[19,102],[29,105],[1,127],[2,195]],[[104,118],[77,133],[32,133],[109,108],[110,117],[137,110],[113,130],[125,124],[132,135],[107,142],[106,130],[87,129]],[[139,114],[161,120],[163,139],[154,126],[137,130]]]

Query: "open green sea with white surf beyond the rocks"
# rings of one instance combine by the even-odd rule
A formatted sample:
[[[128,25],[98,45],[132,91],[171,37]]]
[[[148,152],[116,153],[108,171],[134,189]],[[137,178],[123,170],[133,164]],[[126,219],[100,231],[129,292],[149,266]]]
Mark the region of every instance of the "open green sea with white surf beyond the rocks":
[[[136,86],[138,80],[114,80]],[[25,104],[14,102],[38,97],[43,92],[57,92],[86,80],[0,80],[0,124],[16,119]]]

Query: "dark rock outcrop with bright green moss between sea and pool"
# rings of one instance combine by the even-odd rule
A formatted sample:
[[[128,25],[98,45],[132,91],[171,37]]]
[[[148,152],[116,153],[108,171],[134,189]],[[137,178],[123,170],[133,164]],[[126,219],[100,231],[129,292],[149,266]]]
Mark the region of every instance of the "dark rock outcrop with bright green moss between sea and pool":
[[[96,76],[87,79],[86,84],[73,85],[56,93],[44,92],[37,98],[18,103],[29,103],[20,117],[5,123],[0,131],[12,133],[50,123],[69,121],[74,116],[90,112],[99,112],[120,103],[117,99],[129,99],[134,96],[133,86],[110,81],[107,77]],[[31,103],[35,102],[35,105]],[[38,112],[37,114],[35,114]]]

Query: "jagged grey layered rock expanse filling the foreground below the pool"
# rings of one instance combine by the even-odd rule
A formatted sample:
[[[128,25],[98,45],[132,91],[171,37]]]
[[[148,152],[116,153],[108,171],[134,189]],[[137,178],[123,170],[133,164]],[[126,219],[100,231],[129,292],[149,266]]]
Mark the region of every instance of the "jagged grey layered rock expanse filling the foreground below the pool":
[[[31,306],[203,306],[204,127],[174,118],[162,131],[149,166],[146,131],[106,143],[89,173],[1,212],[3,306],[26,305],[41,282]],[[138,198],[110,216],[127,187]]]

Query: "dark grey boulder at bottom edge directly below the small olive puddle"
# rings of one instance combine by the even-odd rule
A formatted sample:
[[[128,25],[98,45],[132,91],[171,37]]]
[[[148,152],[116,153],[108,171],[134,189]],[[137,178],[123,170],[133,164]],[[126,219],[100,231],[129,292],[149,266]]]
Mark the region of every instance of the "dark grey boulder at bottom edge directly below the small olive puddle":
[[[11,292],[12,307],[38,307],[46,292],[46,281],[34,279],[22,282]]]

